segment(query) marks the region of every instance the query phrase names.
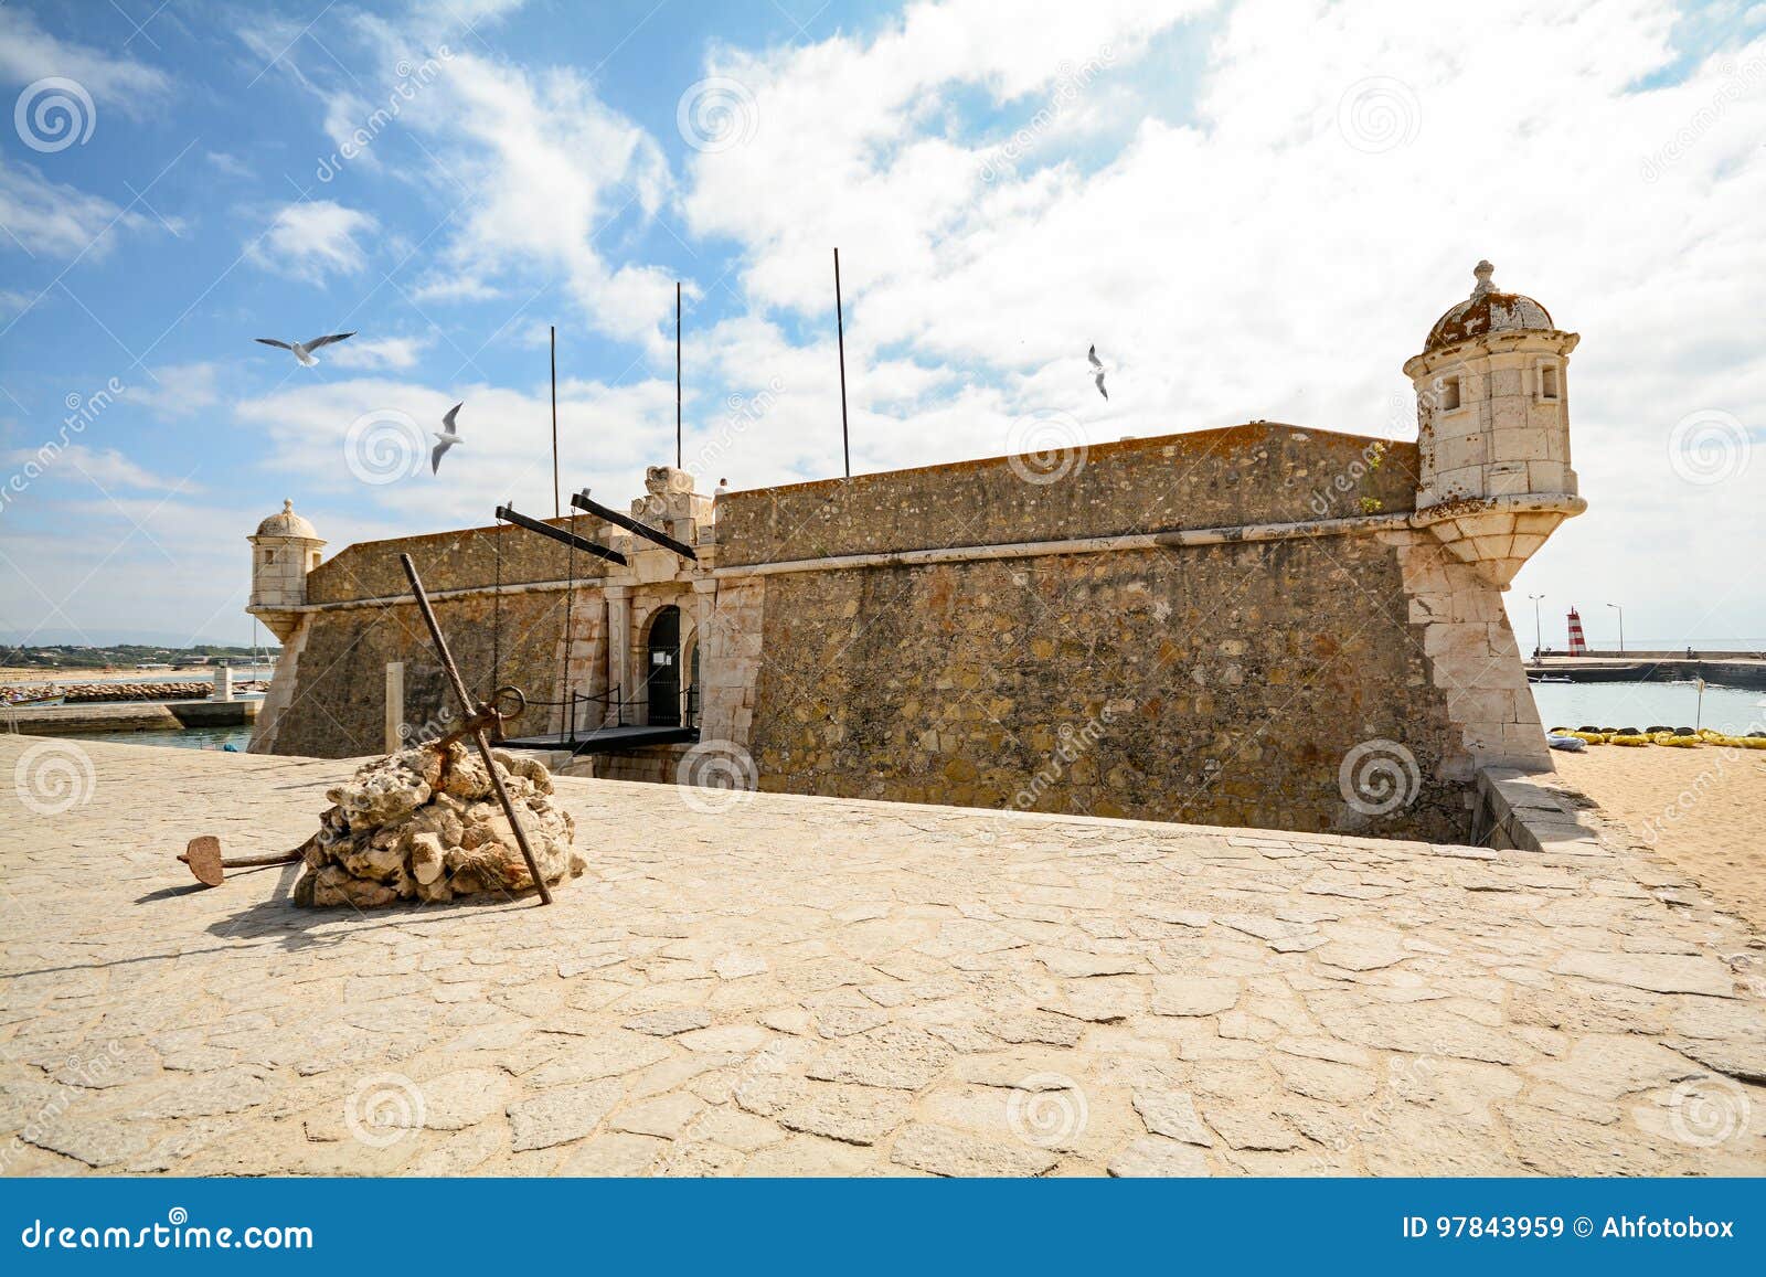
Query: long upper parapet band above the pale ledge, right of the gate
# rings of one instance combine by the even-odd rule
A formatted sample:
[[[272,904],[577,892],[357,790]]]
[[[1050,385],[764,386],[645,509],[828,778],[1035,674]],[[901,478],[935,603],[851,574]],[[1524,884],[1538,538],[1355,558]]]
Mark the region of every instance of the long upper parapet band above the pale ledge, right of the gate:
[[[1044,482],[1033,465],[991,457],[726,493],[719,563],[1402,512],[1418,456],[1415,443],[1256,422],[1056,454]]]

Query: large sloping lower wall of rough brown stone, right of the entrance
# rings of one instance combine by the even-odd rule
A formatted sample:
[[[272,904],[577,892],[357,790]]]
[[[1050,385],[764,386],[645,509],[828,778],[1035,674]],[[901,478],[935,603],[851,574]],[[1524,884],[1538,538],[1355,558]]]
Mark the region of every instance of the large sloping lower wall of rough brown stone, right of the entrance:
[[[1400,548],[1376,535],[782,574],[765,588],[745,742],[765,790],[1468,837],[1464,731]],[[1339,765],[1379,738],[1411,752],[1422,788],[1367,816],[1346,804]]]

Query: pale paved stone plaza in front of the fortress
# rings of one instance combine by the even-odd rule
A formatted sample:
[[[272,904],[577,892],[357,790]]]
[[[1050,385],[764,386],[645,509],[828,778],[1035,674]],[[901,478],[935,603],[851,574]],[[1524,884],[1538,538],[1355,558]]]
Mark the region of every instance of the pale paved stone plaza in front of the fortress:
[[[1766,954],[1628,853],[560,779],[553,908],[360,915],[173,860],[350,763],[79,749],[0,786],[9,1175],[1766,1171]]]

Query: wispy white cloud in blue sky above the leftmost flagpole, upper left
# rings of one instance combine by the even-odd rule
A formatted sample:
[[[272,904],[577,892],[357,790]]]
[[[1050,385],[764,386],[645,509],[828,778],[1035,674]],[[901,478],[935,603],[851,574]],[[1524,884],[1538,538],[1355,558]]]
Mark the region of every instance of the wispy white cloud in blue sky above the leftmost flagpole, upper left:
[[[662,148],[609,108],[585,74],[528,71],[466,51],[468,23],[514,7],[477,0],[419,7],[399,19],[353,16],[350,30],[373,60],[360,74],[344,74],[328,58],[304,64],[298,28],[279,19],[253,18],[238,35],[265,60],[281,55],[277,67],[323,104],[320,125],[332,145],[343,154],[344,141],[353,143],[344,162],[366,159],[427,184],[436,224],[417,228],[417,238],[434,235],[440,251],[410,290],[415,300],[530,295],[562,279],[597,332],[662,353],[659,325],[673,307],[673,276],[609,260],[622,219],[641,224],[668,194]],[[422,74],[411,72],[413,64]],[[376,108],[385,108],[387,122],[369,127]],[[358,131],[371,134],[366,145]],[[401,136],[420,150],[394,164],[392,155],[410,154],[410,141],[397,150]]]

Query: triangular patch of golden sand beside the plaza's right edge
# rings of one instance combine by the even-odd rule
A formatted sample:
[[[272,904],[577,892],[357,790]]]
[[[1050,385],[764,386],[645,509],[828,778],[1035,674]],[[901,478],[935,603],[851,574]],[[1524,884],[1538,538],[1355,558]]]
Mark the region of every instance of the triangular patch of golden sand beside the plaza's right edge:
[[[1593,745],[1552,758],[1602,814],[1766,931],[1766,751]]]

